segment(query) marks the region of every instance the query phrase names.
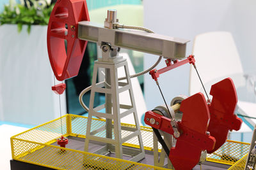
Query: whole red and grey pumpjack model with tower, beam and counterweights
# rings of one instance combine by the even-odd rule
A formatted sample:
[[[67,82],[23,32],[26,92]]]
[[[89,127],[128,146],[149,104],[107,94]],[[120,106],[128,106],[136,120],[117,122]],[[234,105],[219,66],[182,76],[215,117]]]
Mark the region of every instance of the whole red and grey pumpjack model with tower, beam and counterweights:
[[[116,13],[116,10],[108,10],[104,25],[99,25],[90,22],[85,0],[58,0],[49,20],[47,48],[54,75],[57,80],[63,81],[78,74],[87,41],[95,42],[100,46],[102,57],[95,61],[92,86],[84,89],[79,96],[81,105],[88,111],[84,151],[88,152],[90,141],[99,141],[106,143],[106,146],[93,153],[112,152],[118,159],[130,155],[131,161],[139,162],[145,159],[145,150],[131,78],[150,73],[159,87],[157,80],[160,74],[184,64],[192,64],[196,69],[196,62],[193,55],[186,57],[188,40],[156,34],[143,27],[120,24]],[[159,59],[149,69],[130,75],[127,61],[118,54],[120,48],[151,53],[158,55]],[[166,67],[157,70],[155,67],[163,58]],[[117,69],[120,67],[124,68],[125,77],[118,78]],[[97,82],[99,68],[104,69],[105,72],[102,82]],[[65,83],[60,83],[54,85],[52,90],[62,94],[65,88]],[[83,95],[89,90],[91,96],[88,108],[83,102]],[[161,92],[160,87],[159,90]],[[131,104],[119,102],[119,94],[125,91],[129,91]],[[97,92],[105,94],[106,103],[94,107]],[[178,96],[173,98],[170,106],[163,97],[164,106],[157,106],[154,110],[145,113],[145,124],[150,125],[154,131],[155,165],[163,166],[163,159],[167,155],[168,167],[176,170],[192,169],[202,161],[202,158],[204,159],[206,153],[218,150],[225,143],[228,131],[240,129],[242,120],[234,114],[237,94],[232,80],[226,78],[212,85],[210,94],[212,100],[207,96],[207,101],[200,92],[190,97]],[[102,113],[103,109],[105,113]],[[122,109],[126,111],[121,112]],[[122,126],[121,118],[131,114],[134,117],[135,128]],[[106,119],[106,126],[92,128],[92,117]],[[104,138],[95,136],[103,130],[106,131]],[[129,131],[129,135],[122,138],[122,130]],[[125,141],[134,137],[138,139],[140,150],[122,146]],[[163,147],[160,159],[157,140]],[[65,146],[68,139],[62,137],[58,139],[58,143]]]

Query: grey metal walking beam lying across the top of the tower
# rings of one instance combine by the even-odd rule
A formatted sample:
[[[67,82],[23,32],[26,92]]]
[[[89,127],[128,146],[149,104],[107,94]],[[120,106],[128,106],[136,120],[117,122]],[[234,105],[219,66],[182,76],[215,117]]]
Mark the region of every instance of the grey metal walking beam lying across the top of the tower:
[[[186,39],[143,31],[108,29],[90,21],[78,23],[78,38],[99,44],[108,42],[111,46],[152,53],[175,60],[186,57],[186,43],[189,42]]]

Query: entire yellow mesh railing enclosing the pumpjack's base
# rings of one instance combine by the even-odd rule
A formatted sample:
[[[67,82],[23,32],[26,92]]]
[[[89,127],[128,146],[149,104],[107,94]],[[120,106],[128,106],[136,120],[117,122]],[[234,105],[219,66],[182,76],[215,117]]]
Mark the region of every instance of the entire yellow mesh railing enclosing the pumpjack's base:
[[[165,169],[70,148],[62,148],[66,152],[61,152],[60,146],[53,145],[56,139],[61,136],[61,120],[64,136],[86,138],[87,117],[68,114],[12,136],[12,158],[54,169],[84,169],[86,167],[88,169]],[[92,129],[104,125],[105,120],[93,118]],[[131,124],[122,124],[122,126],[135,127]],[[129,131],[122,130],[121,134],[124,138],[129,135]],[[105,135],[105,131],[97,134],[100,137]],[[153,150],[152,129],[141,126],[141,136],[145,150]],[[130,139],[124,145],[140,147],[137,138]],[[248,143],[227,141],[215,153],[207,155],[207,160],[232,165],[248,153],[249,146]],[[161,148],[161,145],[159,145],[159,148]]]

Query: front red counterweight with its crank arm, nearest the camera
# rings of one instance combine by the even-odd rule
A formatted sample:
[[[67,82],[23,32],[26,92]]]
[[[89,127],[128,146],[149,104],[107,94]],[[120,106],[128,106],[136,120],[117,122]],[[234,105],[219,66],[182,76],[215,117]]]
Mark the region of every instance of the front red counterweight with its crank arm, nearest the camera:
[[[180,111],[183,112],[182,120],[178,122],[180,137],[175,147],[171,148],[169,159],[175,170],[190,170],[199,162],[202,150],[212,150],[216,141],[206,134],[210,115],[203,94],[198,93],[182,101]],[[159,124],[150,124],[150,118]],[[147,125],[173,134],[170,118],[148,111],[144,121]]]

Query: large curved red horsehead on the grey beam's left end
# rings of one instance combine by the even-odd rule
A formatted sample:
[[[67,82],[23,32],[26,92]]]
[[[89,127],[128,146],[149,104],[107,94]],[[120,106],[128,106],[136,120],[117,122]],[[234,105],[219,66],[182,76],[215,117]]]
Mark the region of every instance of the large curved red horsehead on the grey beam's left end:
[[[87,45],[87,41],[77,38],[78,22],[82,20],[90,20],[85,0],[56,2],[47,30],[47,48],[52,70],[59,81],[78,74]]]

